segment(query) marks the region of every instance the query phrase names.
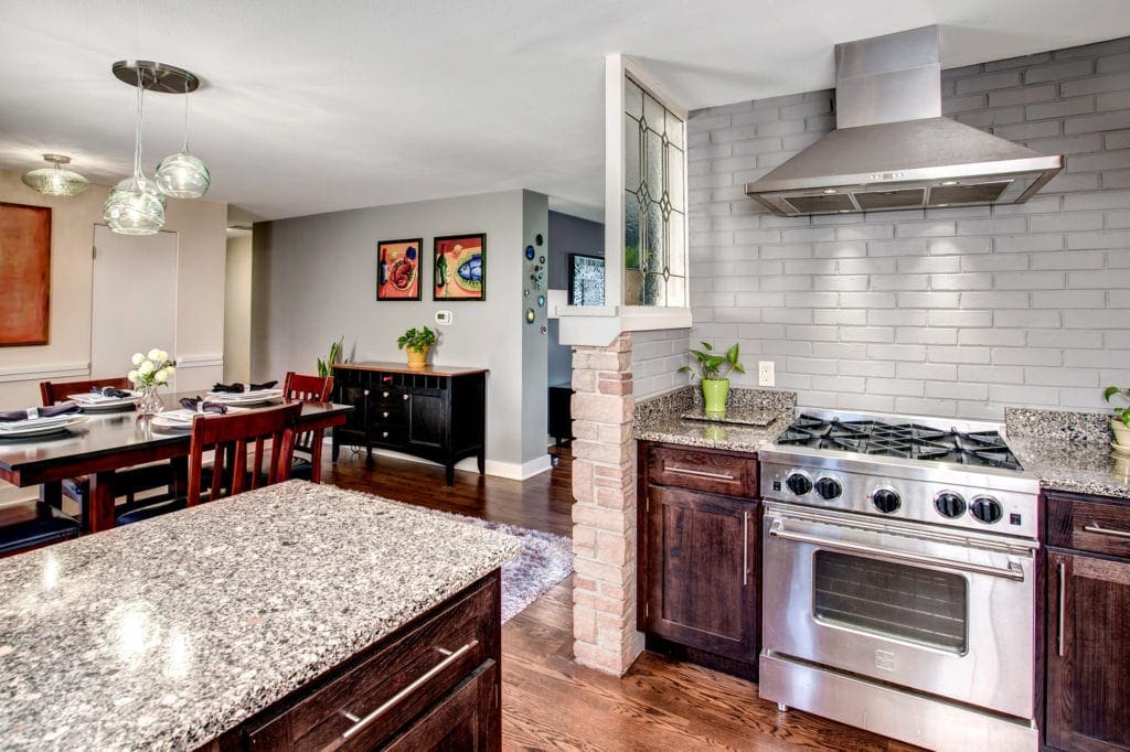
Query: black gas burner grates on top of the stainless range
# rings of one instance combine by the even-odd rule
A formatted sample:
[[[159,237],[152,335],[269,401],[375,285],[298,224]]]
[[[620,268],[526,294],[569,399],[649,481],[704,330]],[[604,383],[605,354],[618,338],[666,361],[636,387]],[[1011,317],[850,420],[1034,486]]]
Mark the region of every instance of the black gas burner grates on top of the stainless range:
[[[1000,432],[993,430],[959,431],[919,422],[846,420],[802,413],[776,443],[974,467],[1024,470]]]

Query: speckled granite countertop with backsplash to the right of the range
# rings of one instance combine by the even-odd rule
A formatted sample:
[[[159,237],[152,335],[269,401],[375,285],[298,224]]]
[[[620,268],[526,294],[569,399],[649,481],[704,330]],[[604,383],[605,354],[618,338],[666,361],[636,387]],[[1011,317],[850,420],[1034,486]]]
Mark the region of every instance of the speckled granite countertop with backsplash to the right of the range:
[[[1009,408],[1008,445],[1040,487],[1130,500],[1130,460],[1111,452],[1109,414]]]

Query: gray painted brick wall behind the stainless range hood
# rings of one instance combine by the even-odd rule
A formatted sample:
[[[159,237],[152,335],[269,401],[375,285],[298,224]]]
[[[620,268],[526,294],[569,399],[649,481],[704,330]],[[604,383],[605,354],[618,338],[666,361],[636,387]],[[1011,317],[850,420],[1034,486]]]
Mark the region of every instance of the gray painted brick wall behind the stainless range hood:
[[[1015,207],[782,218],[744,194],[827,132],[831,91],[692,114],[692,341],[800,403],[1000,419],[1130,383],[1130,38],[942,73],[957,120],[1067,155]],[[758,355],[759,353],[759,355]]]

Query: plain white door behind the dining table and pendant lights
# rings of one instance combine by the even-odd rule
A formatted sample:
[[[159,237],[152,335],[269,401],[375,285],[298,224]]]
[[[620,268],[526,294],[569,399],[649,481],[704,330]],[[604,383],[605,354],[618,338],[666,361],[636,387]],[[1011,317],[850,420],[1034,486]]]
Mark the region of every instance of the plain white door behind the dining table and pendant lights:
[[[124,376],[138,351],[175,357],[176,239],[176,233],[129,236],[94,226],[90,378]]]

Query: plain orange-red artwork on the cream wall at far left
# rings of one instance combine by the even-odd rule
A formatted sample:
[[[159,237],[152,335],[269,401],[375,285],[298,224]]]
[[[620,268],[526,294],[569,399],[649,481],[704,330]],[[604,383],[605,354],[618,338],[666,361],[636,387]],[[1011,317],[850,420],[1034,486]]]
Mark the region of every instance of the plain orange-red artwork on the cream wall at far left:
[[[0,347],[46,344],[51,209],[0,203]]]

